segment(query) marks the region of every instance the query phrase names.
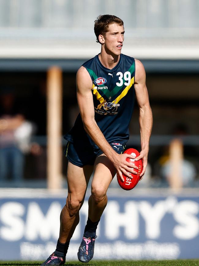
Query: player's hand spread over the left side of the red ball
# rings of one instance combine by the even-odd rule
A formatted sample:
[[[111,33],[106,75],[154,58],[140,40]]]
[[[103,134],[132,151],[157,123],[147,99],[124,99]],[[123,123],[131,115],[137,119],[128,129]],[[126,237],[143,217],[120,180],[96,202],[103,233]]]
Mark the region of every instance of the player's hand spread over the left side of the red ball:
[[[127,153],[118,154],[117,152],[115,152],[115,154],[111,160],[112,163],[114,164],[120,178],[122,179],[122,181],[124,181],[122,173],[124,175],[128,176],[130,179],[132,179],[133,177],[129,172],[137,175],[137,172],[135,171],[135,169],[137,170],[138,167],[132,163],[127,162],[126,158],[135,159],[135,157],[131,154],[127,154]]]

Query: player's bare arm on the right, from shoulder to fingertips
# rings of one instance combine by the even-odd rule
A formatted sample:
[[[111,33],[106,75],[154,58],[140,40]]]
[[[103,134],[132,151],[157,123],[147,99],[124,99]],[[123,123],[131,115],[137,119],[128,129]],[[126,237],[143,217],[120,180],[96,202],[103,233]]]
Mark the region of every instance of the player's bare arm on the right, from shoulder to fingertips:
[[[152,130],[152,110],[149,103],[148,91],[146,87],[146,73],[143,64],[135,59],[135,94],[137,103],[139,106],[139,123],[140,123],[140,135],[141,135],[141,152],[135,160],[142,159],[143,161],[143,170],[140,174],[142,179],[148,159],[148,150],[149,150],[149,139],[151,136]]]

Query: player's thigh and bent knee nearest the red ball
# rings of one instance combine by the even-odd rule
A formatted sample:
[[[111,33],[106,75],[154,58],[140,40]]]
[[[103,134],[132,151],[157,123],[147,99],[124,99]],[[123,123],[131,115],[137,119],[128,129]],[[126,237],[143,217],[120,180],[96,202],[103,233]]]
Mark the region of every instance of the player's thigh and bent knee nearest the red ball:
[[[116,169],[105,154],[98,156],[94,164],[91,184],[92,194],[106,195],[107,189],[116,174]]]

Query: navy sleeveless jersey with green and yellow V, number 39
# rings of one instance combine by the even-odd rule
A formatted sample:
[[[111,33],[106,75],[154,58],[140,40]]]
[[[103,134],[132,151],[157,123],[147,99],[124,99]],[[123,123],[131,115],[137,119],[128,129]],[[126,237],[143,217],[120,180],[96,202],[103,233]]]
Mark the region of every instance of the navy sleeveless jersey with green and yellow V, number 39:
[[[108,69],[98,55],[86,61],[84,66],[92,79],[92,95],[95,121],[108,143],[119,142],[125,145],[129,139],[128,126],[133,113],[135,93],[135,60],[121,54],[118,64]],[[80,114],[72,129],[64,136],[73,142],[75,139],[87,141],[93,148],[97,145],[84,130]]]

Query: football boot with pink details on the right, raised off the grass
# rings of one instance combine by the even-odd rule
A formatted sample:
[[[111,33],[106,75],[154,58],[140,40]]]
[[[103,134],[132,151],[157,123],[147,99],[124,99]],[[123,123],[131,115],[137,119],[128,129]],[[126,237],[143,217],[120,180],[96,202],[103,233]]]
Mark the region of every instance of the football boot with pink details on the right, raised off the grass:
[[[77,253],[78,260],[81,262],[88,262],[94,255],[95,237],[83,236],[79,251]]]

